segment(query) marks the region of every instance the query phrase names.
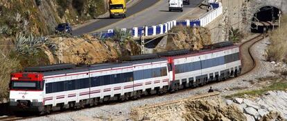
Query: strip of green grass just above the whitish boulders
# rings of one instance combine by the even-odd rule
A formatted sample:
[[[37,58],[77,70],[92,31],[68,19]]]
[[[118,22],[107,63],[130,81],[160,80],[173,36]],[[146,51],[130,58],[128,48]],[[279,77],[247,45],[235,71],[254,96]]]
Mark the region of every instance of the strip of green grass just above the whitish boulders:
[[[238,92],[234,95],[227,95],[226,98],[244,97],[244,95],[258,96],[264,94],[269,90],[286,90],[286,89],[287,89],[287,81],[274,82],[270,86],[263,87],[259,90],[247,90],[244,92]]]

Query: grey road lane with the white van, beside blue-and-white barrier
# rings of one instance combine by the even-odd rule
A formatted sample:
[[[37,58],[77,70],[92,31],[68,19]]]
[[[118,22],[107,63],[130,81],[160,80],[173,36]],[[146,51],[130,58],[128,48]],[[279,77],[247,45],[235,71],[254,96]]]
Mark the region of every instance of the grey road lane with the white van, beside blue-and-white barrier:
[[[144,0],[146,1],[146,0]],[[123,19],[120,22],[111,24],[110,26],[105,26],[96,31],[106,31],[107,29],[114,28],[132,28],[139,26],[153,26],[161,23],[165,23],[177,18],[183,17],[184,15],[192,15],[192,10],[194,10],[203,0],[190,0],[190,5],[184,5],[184,11],[173,11],[168,12],[168,0],[160,0],[155,6],[144,10],[141,13],[132,15]]]

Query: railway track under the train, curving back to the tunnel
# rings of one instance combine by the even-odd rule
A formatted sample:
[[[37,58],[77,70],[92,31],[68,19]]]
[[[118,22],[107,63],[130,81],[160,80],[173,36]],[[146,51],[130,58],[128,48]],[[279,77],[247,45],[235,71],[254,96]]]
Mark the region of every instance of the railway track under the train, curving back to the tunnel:
[[[270,23],[268,23],[268,22],[262,22],[262,24],[264,26],[270,25]],[[264,38],[263,33],[257,34],[257,35],[255,35],[254,38],[251,38],[250,40],[247,40],[247,41],[240,44],[243,70],[241,72],[241,75],[239,75],[239,76],[249,74],[258,65],[256,58],[252,55],[251,49],[252,49],[253,45],[255,45],[257,42],[260,42],[261,40],[263,40],[263,38]],[[226,81],[232,81],[232,80],[233,79],[227,79]],[[226,81],[221,81],[221,82],[217,82],[217,83],[226,83]],[[202,87],[198,87],[198,88],[186,88],[184,90],[178,90],[176,93],[197,90],[200,88],[207,88],[207,87],[211,86],[212,84],[214,84],[214,83],[208,83],[207,85],[202,86]],[[171,95],[171,94],[172,94],[171,92],[168,92],[168,93],[165,93],[164,95]],[[140,99],[149,99],[149,98],[154,98],[157,96],[158,95],[149,95],[146,97],[141,97]],[[127,102],[132,102],[132,101],[133,100],[128,100]],[[114,104],[119,104],[119,103],[121,103],[121,102],[110,102],[109,105],[114,105]],[[98,106],[102,106],[102,105],[105,105],[105,104],[99,104]],[[94,107],[90,107],[90,108],[94,108]],[[53,112],[51,115],[55,115],[55,114],[59,114],[59,113],[68,113],[70,111],[71,110],[56,111],[56,112]],[[10,115],[7,117],[0,118],[0,121],[25,120],[25,119],[36,118],[36,117],[38,117],[38,116],[37,115],[29,115],[29,116],[24,116],[24,117],[17,117],[15,115]]]

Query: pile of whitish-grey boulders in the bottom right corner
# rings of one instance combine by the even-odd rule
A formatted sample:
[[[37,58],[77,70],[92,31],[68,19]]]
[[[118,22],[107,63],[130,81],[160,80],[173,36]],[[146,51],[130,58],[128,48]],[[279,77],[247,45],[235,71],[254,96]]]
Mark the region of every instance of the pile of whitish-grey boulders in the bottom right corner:
[[[235,106],[243,108],[247,120],[286,120],[287,119],[287,92],[268,91],[257,99],[239,99],[233,101]],[[243,100],[241,102],[241,100]],[[227,104],[230,104],[227,103]]]

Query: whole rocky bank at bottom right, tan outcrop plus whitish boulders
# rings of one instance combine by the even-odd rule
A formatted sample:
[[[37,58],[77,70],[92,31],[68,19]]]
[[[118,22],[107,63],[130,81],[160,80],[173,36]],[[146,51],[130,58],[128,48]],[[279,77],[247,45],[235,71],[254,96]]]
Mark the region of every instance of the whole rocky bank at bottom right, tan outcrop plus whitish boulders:
[[[194,120],[194,121],[285,121],[285,91],[269,91],[256,99],[205,97],[202,94],[175,102],[134,108],[133,120]]]

